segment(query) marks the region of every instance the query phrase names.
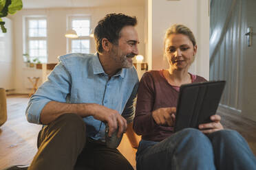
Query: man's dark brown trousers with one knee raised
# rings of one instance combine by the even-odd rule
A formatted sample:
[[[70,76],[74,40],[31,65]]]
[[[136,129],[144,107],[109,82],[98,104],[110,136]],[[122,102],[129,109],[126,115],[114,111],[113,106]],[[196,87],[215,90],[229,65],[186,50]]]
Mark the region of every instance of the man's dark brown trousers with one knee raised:
[[[133,169],[118,149],[86,138],[83,119],[63,114],[39,132],[39,150],[29,170]]]

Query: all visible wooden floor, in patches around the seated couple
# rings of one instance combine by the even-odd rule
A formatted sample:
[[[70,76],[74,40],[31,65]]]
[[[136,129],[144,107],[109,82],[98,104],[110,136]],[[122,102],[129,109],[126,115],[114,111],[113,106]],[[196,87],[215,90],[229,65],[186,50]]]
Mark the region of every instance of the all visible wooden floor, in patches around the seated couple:
[[[41,125],[28,123],[25,119],[27,96],[8,96],[8,121],[0,127],[0,169],[10,165],[29,164],[36,154],[36,138]],[[222,124],[228,129],[237,130],[246,138],[256,155],[256,123],[239,115],[219,112]],[[132,148],[126,136],[118,149],[135,166],[136,149]]]

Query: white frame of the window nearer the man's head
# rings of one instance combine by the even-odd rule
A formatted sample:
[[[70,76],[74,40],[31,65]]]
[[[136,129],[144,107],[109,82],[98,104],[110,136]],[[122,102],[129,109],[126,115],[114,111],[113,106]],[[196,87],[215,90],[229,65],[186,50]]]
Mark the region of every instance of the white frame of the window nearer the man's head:
[[[67,16],[67,29],[72,29],[72,21],[76,19],[89,20],[89,34],[91,33],[92,20],[90,15],[69,15]],[[67,38],[67,53],[72,53],[72,40],[89,40],[89,53],[91,52],[92,37],[88,36],[78,36],[78,38]]]

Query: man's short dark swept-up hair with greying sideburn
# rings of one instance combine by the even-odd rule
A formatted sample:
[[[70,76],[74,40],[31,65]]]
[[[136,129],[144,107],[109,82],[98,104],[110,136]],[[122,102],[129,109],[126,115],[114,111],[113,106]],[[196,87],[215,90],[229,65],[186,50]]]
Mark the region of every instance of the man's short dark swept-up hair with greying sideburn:
[[[120,31],[123,27],[137,24],[136,16],[131,17],[125,14],[107,14],[104,19],[98,21],[94,29],[94,39],[98,53],[103,52],[102,40],[107,38],[111,43],[118,43]]]

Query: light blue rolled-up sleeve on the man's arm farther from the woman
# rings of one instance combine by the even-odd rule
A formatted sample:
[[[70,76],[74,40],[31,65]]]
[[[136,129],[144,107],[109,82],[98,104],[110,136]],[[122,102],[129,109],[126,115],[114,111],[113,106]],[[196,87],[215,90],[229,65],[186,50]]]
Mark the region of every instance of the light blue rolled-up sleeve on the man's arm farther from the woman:
[[[71,76],[63,62],[55,66],[47,79],[28,102],[25,114],[30,123],[41,124],[40,114],[44,106],[50,101],[66,102],[67,95],[70,94]]]

